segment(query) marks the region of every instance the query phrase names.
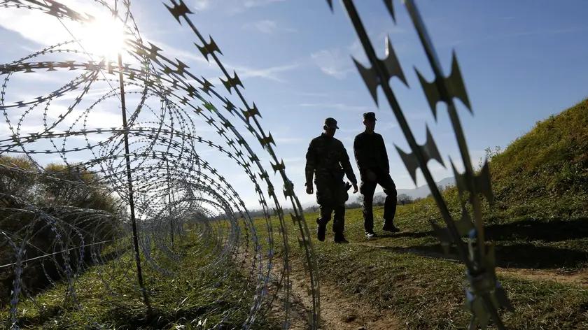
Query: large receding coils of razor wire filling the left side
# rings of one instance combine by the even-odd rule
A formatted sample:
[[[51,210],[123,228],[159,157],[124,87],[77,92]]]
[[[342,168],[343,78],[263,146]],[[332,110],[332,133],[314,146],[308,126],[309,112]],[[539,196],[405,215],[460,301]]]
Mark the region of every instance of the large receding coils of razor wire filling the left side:
[[[10,132],[9,136],[0,138],[1,168],[6,170],[3,185],[7,188],[0,192],[1,201],[6,203],[1,208],[0,230],[5,240],[3,255],[12,261],[6,263],[6,268],[11,268],[14,273],[7,274],[12,278],[10,291],[13,298],[8,302],[10,327],[18,329],[25,324],[22,317],[26,319],[31,308],[38,308],[38,314],[43,311],[43,303],[36,298],[34,282],[25,276],[27,272],[34,274],[31,266],[34,262],[39,264],[37,268],[42,268],[42,274],[37,274],[37,278],[44,276],[48,287],[59,287],[64,283],[66,294],[62,306],[73,305],[73,309],[85,318],[85,324],[104,327],[79,298],[80,294],[84,296],[85,292],[91,291],[80,276],[89,271],[88,264],[101,265],[95,269],[102,282],[102,292],[97,290],[94,296],[123,297],[126,290],[140,292],[147,313],[156,313],[154,304],[157,303],[151,297],[157,296],[158,287],[151,284],[160,275],[180,280],[178,276],[181,274],[174,271],[177,267],[173,263],[180,262],[182,256],[175,247],[189,243],[195,248],[190,254],[207,261],[193,272],[210,271],[217,275],[212,282],[206,282],[209,287],[195,288],[195,291],[200,295],[212,292],[208,299],[214,303],[221,303],[235,294],[239,295],[239,302],[245,299],[245,292],[250,292],[252,307],[246,313],[246,320],[240,320],[243,329],[249,329],[262,306],[277,299],[277,291],[270,296],[268,286],[269,273],[275,264],[274,246],[276,239],[281,238],[283,266],[279,277],[283,279],[281,286],[287,292],[281,298],[286,312],[283,327],[287,329],[290,243],[281,199],[276,192],[280,188],[270,180],[260,158],[253,152],[253,146],[237,129],[237,122],[228,120],[223,114],[227,111],[241,121],[242,127],[255,138],[255,143],[267,152],[274,173],[279,173],[282,180],[278,187],[283,187],[286,200],[292,204],[292,218],[307,260],[307,275],[311,279],[308,292],[314,301],[314,310],[309,320],[316,329],[319,321],[318,275],[302,206],[286,175],[286,167],[274,152],[272,135],[261,127],[258,108],[244,98],[236,73],[230,77],[214,54],[215,50],[220,52],[218,46],[212,39],[210,43],[204,41],[187,20],[197,36],[196,41],[201,44],[197,45],[200,52],[207,60],[212,57],[223,71],[226,76],[223,84],[230,94],[237,94],[236,101],[216,92],[211,82],[189,71],[181,60],[166,57],[158,46],[144,41],[134,22],[130,1],[123,1],[120,8],[117,8],[118,1],[114,6],[106,1],[94,2],[114,20],[123,23],[126,49],[119,53],[118,64],[88,52],[76,39],[57,43],[0,66],[0,75],[3,76],[0,108]],[[0,6],[3,10],[31,10],[57,17],[73,38],[76,38],[72,33],[75,30],[69,29],[64,22],[92,24],[95,21],[92,15],[79,13],[57,1],[4,0]],[[172,13],[178,21],[180,15],[189,13],[183,3],[172,1],[172,6],[165,6],[167,10],[162,10],[167,12],[166,15]],[[55,55],[59,59],[50,59]],[[62,58],[67,55],[87,59]],[[127,62],[120,59],[123,55]],[[15,75],[64,71],[83,72],[48,94],[22,101],[7,99],[11,95],[7,92],[9,82]],[[105,83],[108,87],[97,87]],[[102,92],[104,90],[106,92]],[[99,97],[92,97],[92,94]],[[113,98],[120,103],[123,124],[118,120],[112,122],[111,127],[97,127],[92,118],[102,113],[104,104],[111,106]],[[53,108],[63,99],[73,101],[62,113],[55,115]],[[92,101],[87,102],[87,99]],[[237,106],[239,101],[243,108]],[[133,107],[131,103],[134,103]],[[159,106],[156,107],[155,103]],[[127,115],[128,122],[125,122]],[[27,131],[31,117],[42,118],[43,126],[35,133]],[[217,142],[199,136],[195,118],[206,122],[221,140]],[[256,228],[239,194],[212,164],[202,159],[197,151],[202,147],[232,160],[251,180],[265,218],[266,242],[262,242],[258,233],[260,229]],[[6,157],[8,155],[24,158]],[[40,163],[39,157],[51,155],[57,155],[64,166],[43,166]],[[72,158],[76,161],[72,162]],[[18,180],[10,181],[11,178],[27,182],[18,186]],[[83,196],[61,198],[64,194],[48,196],[43,193],[36,199],[31,198],[33,191],[62,193],[64,189],[69,189],[72,194],[82,194],[78,192],[80,190],[102,196],[112,200],[116,207],[99,210],[96,205],[71,206],[74,197],[76,202],[86,201]],[[266,196],[279,219],[277,227],[272,223]],[[226,221],[214,221],[223,216]],[[41,234],[47,236],[41,239]],[[275,237],[276,234],[280,238]],[[7,254],[8,248],[13,252]],[[229,280],[236,263],[240,263],[241,268],[249,268],[247,280],[221,286]],[[223,292],[210,290],[221,287]],[[25,313],[18,306],[26,306],[29,311]],[[219,307],[218,313],[222,315],[216,325],[208,320],[207,329],[223,329],[231,315],[240,312],[237,307],[228,310]]]

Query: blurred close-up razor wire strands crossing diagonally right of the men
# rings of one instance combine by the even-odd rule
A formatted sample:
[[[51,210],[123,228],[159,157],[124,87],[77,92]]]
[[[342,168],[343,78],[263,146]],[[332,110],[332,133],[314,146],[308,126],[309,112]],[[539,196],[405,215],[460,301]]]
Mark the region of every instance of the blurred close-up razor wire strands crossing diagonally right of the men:
[[[379,106],[377,99],[378,86],[381,87],[384,92],[386,101],[388,101],[392,112],[398,120],[398,124],[402,129],[402,134],[407,138],[407,143],[409,144],[412,153],[407,154],[398,148],[397,145],[395,145],[395,148],[415,185],[416,170],[418,168],[421,169],[443,220],[447,225],[447,227],[443,228],[435,221],[430,220],[433,231],[437,238],[439,238],[445,254],[449,254],[449,247],[453,244],[456,247],[459,257],[467,268],[467,281],[464,283],[466,300],[463,307],[465,310],[469,310],[472,313],[469,329],[476,329],[478,325],[482,327],[482,329],[486,329],[490,321],[493,321],[498,329],[506,329],[498,315],[498,310],[504,307],[507,310],[512,311],[514,308],[510,303],[504,288],[496,278],[494,245],[491,243],[489,246],[486,246],[484,241],[484,224],[482,221],[481,199],[479,196],[482,194],[486,201],[488,201],[491,206],[493,205],[490,170],[487,159],[479,173],[474,172],[471,164],[468,146],[465,142],[463,129],[457,115],[454,98],[462,101],[466,108],[470,110],[470,113],[472,113],[472,110],[468,94],[465,91],[465,85],[463,78],[461,77],[461,71],[459,70],[455,52],[453,53],[451,62],[451,73],[446,78],[443,75],[441,64],[435,53],[435,48],[433,48],[433,43],[428,36],[428,32],[419,10],[416,8],[416,3],[414,0],[402,0],[402,3],[404,3],[409,13],[409,17],[414,24],[419,40],[426,52],[428,62],[430,62],[433,73],[435,74],[435,79],[433,82],[428,82],[423,76],[421,76],[421,73],[419,73],[417,69],[415,69],[416,75],[419,77],[419,82],[423,87],[423,92],[425,93],[429,106],[433,111],[433,117],[435,120],[437,120],[437,102],[443,101],[447,104],[447,112],[449,113],[449,119],[453,126],[458,148],[463,160],[465,172],[458,173],[450,159],[451,168],[453,169],[456,178],[458,195],[461,200],[460,220],[454,220],[453,217],[451,217],[447,203],[445,203],[439,188],[435,185],[433,175],[427,167],[428,162],[433,159],[442,166],[445,166],[428,126],[426,127],[426,142],[423,145],[419,145],[416,142],[407,120],[402,113],[400,104],[398,104],[389,85],[391,78],[396,77],[408,87],[407,80],[402,72],[400,62],[395,55],[390,38],[386,36],[386,57],[384,59],[379,59],[369,36],[367,36],[367,32],[365,31],[365,27],[363,26],[353,1],[341,0],[341,2],[353,28],[356,30],[371,67],[368,68],[363,66],[356,59],[353,59],[353,62],[356,64],[356,68],[358,69],[360,76],[363,78],[368,92],[370,92],[376,106]],[[330,9],[333,10],[332,0],[327,0],[327,3]],[[384,5],[386,6],[393,22],[395,22],[393,0],[384,0]],[[470,215],[470,210],[468,210],[468,203],[472,208],[473,217]],[[472,218],[474,220],[473,223]],[[468,238],[468,243],[463,242],[462,237],[464,236]],[[468,287],[468,285],[470,287]]]

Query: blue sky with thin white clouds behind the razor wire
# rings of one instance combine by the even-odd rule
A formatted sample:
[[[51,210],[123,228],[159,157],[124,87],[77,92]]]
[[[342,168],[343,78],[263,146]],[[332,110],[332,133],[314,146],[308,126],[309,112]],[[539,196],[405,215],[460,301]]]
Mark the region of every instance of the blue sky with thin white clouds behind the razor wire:
[[[113,3],[113,0],[106,2]],[[260,110],[260,123],[266,132],[272,134],[276,155],[286,164],[286,174],[293,181],[302,203],[315,200],[314,195],[304,192],[304,155],[309,141],[321,134],[325,117],[335,117],[338,121],[340,129],[335,137],[344,143],[358,176],[353,162],[353,137],[363,131],[362,113],[376,113],[376,131],[386,141],[391,176],[396,186],[414,188],[425,185],[420,171],[415,185],[395,150],[397,145],[410,152],[381,89],[378,90],[378,107],[360,78],[351,58],[367,66],[367,57],[341,3],[333,2],[333,13],[323,0],[187,0],[186,4],[194,13],[190,19],[195,27],[205,38],[213,36],[223,52],[219,55],[221,61],[230,72],[234,69],[241,78],[244,85],[242,92],[248,103],[254,101]],[[435,121],[416,76],[415,68],[426,79],[433,80],[430,64],[407,10],[401,1],[393,1],[396,13],[394,24],[385,10],[384,1],[354,2],[379,57],[383,58],[385,54],[384,38],[388,36],[391,39],[409,86],[393,78],[390,82],[393,92],[416,141],[426,141],[428,126],[444,159],[444,167],[429,162],[433,177],[438,181],[453,175],[450,158],[458,169],[463,170],[445,106],[437,104]],[[585,20],[588,1],[417,2],[446,75],[451,66],[451,53],[456,52],[473,116],[457,101],[458,114],[474,166],[481,157],[485,157],[484,149],[496,146],[504,149],[518,136],[532,129],[535,122],[557,114],[588,96],[585,89],[588,86],[585,61],[588,58],[588,22]],[[100,12],[94,1],[70,0],[62,3],[92,15],[99,15]],[[219,93],[242,107],[239,99],[234,94],[228,94],[219,82],[221,71],[216,64],[206,62],[195,47],[195,42],[200,44],[195,34],[183,20],[183,24],[179,24],[163,3],[169,4],[169,1],[132,1],[132,13],[141,36],[158,45],[163,55],[180,59],[190,67],[190,72],[207,78]],[[83,29],[72,28],[71,32],[77,36],[90,36]],[[94,33],[92,36],[102,38],[101,43],[95,42],[94,46],[113,42],[113,38],[105,38],[102,34]],[[8,64],[69,39],[69,32],[56,17],[0,6],[0,64]],[[81,53],[46,58],[57,61],[89,60],[87,55]],[[31,59],[31,62],[34,61]],[[5,104],[47,94],[80,73],[66,70],[35,75],[17,73],[10,77]],[[0,79],[3,78],[0,76]],[[84,110],[92,105],[90,96],[95,100],[110,90],[109,85],[104,83],[97,86],[85,98],[87,101],[72,110],[69,116],[73,119],[66,122],[67,125],[79,125],[75,118],[83,115]],[[7,111],[11,122],[24,118],[22,132],[37,132],[43,128],[44,119],[55,120],[67,110],[75,97],[63,96],[53,101],[44,114],[41,109],[44,106],[29,109],[25,117],[22,114],[28,108],[10,108]],[[111,97],[92,107],[86,122],[94,127],[120,126],[117,102],[116,97]],[[141,119],[157,120],[158,109],[153,111],[152,114],[144,112]],[[231,118],[262,160],[274,185],[281,187],[283,181],[279,175],[274,175],[267,152],[248,134],[237,117],[226,111],[223,115]],[[190,117],[200,136],[225,145],[216,136],[216,130],[211,129],[202,118],[195,113]],[[10,134],[6,124],[0,124],[0,140]],[[34,148],[51,149],[52,146],[47,143]],[[70,143],[75,144],[73,140],[68,145]],[[242,168],[227,162],[224,154],[214,152],[206,145],[197,145],[197,152],[230,182],[248,208],[260,208],[253,185]],[[59,159],[56,155],[38,157],[40,162]],[[90,152],[78,152],[69,153],[67,157],[83,160],[94,156]],[[266,189],[265,185],[262,187]],[[379,191],[381,188],[377,189]],[[283,195],[279,196],[282,203]],[[350,199],[354,200],[357,196],[359,194],[352,194]]]

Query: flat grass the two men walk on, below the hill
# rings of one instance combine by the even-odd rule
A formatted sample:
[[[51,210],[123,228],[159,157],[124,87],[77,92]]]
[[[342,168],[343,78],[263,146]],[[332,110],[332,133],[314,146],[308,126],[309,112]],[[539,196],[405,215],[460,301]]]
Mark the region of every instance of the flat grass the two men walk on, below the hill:
[[[375,213],[381,215],[381,208]],[[307,214],[306,218],[315,216]],[[336,245],[332,243],[332,235],[328,235],[325,242],[313,238],[321,280],[347,294],[363,297],[374,308],[390,310],[406,324],[406,329],[467,329],[470,314],[461,310],[465,300],[462,285],[465,266],[443,259],[436,238],[428,229],[419,226],[419,220],[412,206],[401,206],[397,221],[405,232],[367,241],[363,238],[360,210],[349,210],[346,236],[351,244]],[[314,232],[316,225],[309,222],[309,227]],[[581,250],[570,248],[570,251],[582,256],[584,262],[587,245],[570,241],[560,243],[581,246]],[[581,269],[582,262],[577,258],[566,261],[566,257],[555,253],[541,255],[550,243],[540,239],[527,241],[523,247],[509,241],[496,243],[499,266],[533,268],[534,258],[538,258],[547,269],[559,268],[559,263],[564,262],[575,263],[575,269]],[[298,250],[292,250],[292,254],[302,257]],[[531,259],[526,260],[526,257]],[[587,288],[512,275],[499,274],[498,280],[517,308],[514,313],[502,314],[508,329],[588,327]]]

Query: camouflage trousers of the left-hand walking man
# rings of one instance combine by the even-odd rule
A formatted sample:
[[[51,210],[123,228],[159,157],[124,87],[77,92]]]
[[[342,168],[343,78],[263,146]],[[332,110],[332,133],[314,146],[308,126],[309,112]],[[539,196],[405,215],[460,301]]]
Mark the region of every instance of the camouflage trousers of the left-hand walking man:
[[[316,223],[326,225],[332,215],[332,231],[342,233],[345,227],[345,202],[349,199],[345,182],[341,180],[315,183],[316,203],[319,206]]]

